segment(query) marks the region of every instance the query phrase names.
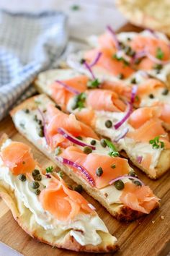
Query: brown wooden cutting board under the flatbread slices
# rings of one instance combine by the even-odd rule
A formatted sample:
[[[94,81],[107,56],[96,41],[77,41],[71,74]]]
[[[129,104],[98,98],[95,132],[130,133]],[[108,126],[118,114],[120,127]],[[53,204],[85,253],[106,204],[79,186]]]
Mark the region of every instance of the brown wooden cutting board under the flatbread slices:
[[[122,31],[138,30],[132,25],[125,25]],[[24,137],[19,135],[14,128],[12,119],[7,116],[0,122],[0,136],[6,132],[12,140],[26,142],[31,145]],[[33,145],[32,151],[42,165],[52,165],[53,163],[42,155]],[[136,168],[135,168],[136,170]],[[153,213],[140,218],[132,223],[120,223],[115,220],[97,201],[86,195],[84,197],[97,208],[97,213],[106,223],[111,234],[114,234],[119,242],[120,250],[115,253],[116,256],[164,256],[170,252],[170,182],[169,174],[166,173],[158,181],[151,181],[138,169],[138,176],[145,184],[148,184],[153,192],[161,198],[161,208],[154,210]],[[53,255],[89,255],[89,253],[71,252],[65,249],[57,249],[37,242],[28,236],[12,218],[12,213],[6,207],[3,200],[0,199],[0,240],[9,245],[24,256],[53,256]],[[94,254],[91,254],[94,255]],[[112,255],[112,254],[105,254]],[[3,255],[4,256],[4,255]]]

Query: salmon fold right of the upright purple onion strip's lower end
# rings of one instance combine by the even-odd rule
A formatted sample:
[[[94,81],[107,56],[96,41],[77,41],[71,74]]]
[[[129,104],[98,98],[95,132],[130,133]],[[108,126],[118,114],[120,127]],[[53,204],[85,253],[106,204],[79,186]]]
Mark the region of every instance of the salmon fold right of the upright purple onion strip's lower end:
[[[133,111],[128,122],[133,128],[138,129],[145,124],[146,121],[154,117],[158,118],[159,116],[161,116],[161,108],[158,106],[143,107]]]

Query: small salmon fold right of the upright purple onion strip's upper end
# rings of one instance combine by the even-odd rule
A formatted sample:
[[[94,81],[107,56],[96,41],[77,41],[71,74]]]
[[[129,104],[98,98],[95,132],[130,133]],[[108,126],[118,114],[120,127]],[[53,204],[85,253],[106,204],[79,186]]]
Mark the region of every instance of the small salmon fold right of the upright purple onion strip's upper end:
[[[138,85],[138,95],[146,95],[153,93],[157,88],[165,88],[163,82],[156,79],[148,79],[145,82]]]

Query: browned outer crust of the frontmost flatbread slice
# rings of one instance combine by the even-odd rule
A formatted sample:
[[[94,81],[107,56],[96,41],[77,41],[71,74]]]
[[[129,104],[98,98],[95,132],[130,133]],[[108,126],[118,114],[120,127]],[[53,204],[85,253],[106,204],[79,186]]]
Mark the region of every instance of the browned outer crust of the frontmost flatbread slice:
[[[7,135],[2,135],[0,138],[0,148]],[[66,231],[61,237],[47,234],[42,226],[36,223],[33,213],[24,206],[22,200],[15,194],[14,190],[4,181],[0,181],[0,196],[6,202],[6,205],[12,211],[12,216],[21,228],[32,238],[40,242],[50,244],[53,247],[70,249],[76,252],[115,252],[119,249],[117,242],[112,241],[112,235],[102,231],[97,231],[102,238],[102,243],[96,246],[87,244],[82,246],[73,236],[70,236],[69,231]]]

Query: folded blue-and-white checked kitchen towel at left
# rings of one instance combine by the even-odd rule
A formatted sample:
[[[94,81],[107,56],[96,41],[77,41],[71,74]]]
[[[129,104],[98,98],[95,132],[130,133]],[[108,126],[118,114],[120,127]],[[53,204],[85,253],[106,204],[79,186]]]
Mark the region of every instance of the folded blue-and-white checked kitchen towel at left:
[[[29,88],[38,72],[55,67],[68,40],[62,12],[39,14],[0,11],[0,120]]]

